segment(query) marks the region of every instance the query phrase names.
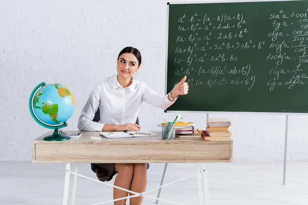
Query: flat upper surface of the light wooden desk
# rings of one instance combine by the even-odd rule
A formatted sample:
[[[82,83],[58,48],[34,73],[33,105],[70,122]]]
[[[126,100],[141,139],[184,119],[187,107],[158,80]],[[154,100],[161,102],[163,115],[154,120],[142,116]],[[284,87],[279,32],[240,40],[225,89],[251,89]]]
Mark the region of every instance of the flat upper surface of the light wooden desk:
[[[65,131],[67,134],[70,133],[82,133],[82,136],[78,138],[70,138],[64,141],[46,141],[45,136],[51,135],[53,131],[49,131],[40,137],[34,139],[32,144],[233,144],[233,140],[226,141],[204,141],[201,136],[198,136],[195,132],[194,137],[187,135],[176,137],[174,140],[163,140],[161,131],[151,131],[156,133],[158,136],[149,137],[127,137],[127,138],[114,138],[108,139],[101,137],[101,139],[91,139],[91,137],[100,137],[99,132],[87,132],[87,131]],[[198,133],[198,132],[197,132]]]

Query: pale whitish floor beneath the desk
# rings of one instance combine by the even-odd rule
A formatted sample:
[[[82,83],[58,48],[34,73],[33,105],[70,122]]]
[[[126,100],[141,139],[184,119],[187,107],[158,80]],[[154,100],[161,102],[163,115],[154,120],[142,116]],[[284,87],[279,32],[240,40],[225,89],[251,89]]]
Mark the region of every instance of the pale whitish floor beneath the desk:
[[[150,164],[147,190],[160,185],[163,169],[162,163]],[[208,163],[207,169],[211,205],[308,204],[308,162],[287,162],[286,185],[282,185],[283,162]],[[64,170],[65,164],[0,162],[0,204],[62,204]],[[195,164],[169,163],[164,182],[194,172]],[[95,178],[89,164],[80,165],[80,174]],[[194,176],[163,188],[161,198],[197,205],[197,190]],[[157,192],[149,195],[156,196]],[[106,200],[112,200],[112,188],[79,178],[76,205]],[[143,204],[155,204],[155,199],[144,198]]]

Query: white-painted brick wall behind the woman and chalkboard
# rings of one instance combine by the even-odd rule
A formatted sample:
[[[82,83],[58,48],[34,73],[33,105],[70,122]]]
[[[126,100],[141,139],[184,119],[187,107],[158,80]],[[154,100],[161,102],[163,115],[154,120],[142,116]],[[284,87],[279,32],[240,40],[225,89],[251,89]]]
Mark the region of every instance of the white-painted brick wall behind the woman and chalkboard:
[[[67,86],[76,109],[65,130],[76,130],[94,83],[115,73],[126,46],[143,56],[138,79],[164,93],[166,2],[0,0],[0,161],[31,160],[31,140],[49,131],[28,110],[33,88]],[[206,114],[183,114],[205,128]],[[210,114],[233,122],[234,160],[283,160],[284,115]],[[140,122],[157,129],[174,114],[142,105]],[[308,116],[289,117],[288,160],[308,160]]]

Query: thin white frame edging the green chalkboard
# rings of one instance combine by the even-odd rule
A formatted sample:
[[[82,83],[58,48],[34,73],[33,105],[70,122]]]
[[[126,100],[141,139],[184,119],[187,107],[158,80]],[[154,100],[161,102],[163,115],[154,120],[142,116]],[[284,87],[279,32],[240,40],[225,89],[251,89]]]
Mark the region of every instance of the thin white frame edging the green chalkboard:
[[[249,2],[284,2],[285,0],[204,0],[202,2],[168,2],[167,3],[167,15],[166,15],[166,60],[165,60],[165,95],[170,91],[167,90],[167,72],[168,72],[168,34],[169,34],[169,6],[176,4],[220,4],[220,3],[249,3]],[[308,0],[286,0],[286,1],[308,1]],[[165,113],[206,113],[206,114],[261,114],[261,115],[308,115],[307,113],[300,112],[242,112],[242,111],[181,111],[181,110],[164,110]]]

